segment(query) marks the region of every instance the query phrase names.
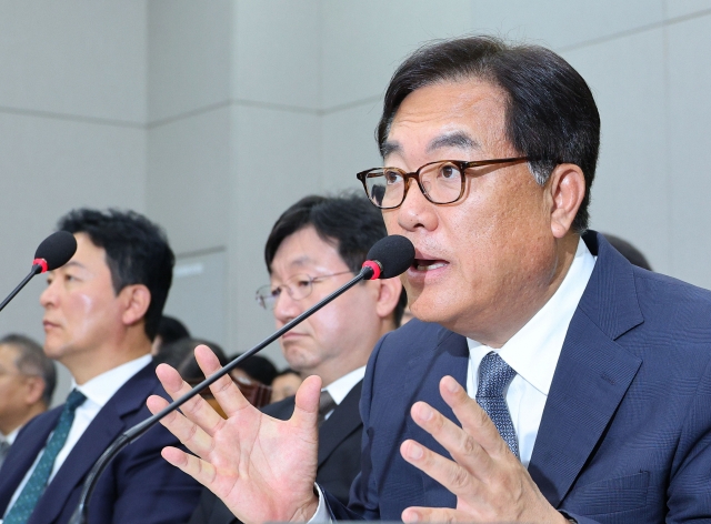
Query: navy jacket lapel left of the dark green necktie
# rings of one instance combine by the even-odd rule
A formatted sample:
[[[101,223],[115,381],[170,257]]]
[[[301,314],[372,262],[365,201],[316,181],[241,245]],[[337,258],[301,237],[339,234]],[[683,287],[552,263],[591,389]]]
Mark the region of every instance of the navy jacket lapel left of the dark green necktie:
[[[23,427],[10,449],[7,460],[2,464],[0,475],[0,516],[4,513],[12,498],[12,494],[24,478],[26,473],[42,451],[50,433],[57,426],[61,407],[40,415]]]

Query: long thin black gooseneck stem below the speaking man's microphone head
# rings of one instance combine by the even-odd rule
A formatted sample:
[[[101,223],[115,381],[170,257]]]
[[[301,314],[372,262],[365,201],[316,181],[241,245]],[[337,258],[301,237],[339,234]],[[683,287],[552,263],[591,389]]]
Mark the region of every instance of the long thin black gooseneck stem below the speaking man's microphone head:
[[[296,325],[303,322],[306,319],[308,319],[313,313],[319,311],[326,304],[333,301],[334,299],[343,294],[346,291],[350,290],[352,286],[358,284],[359,282],[363,280],[372,279],[374,274],[375,272],[371,266],[362,268],[360,272],[356,275],[356,278],[353,278],[350,282],[348,282],[343,286],[336,290],[333,293],[328,295],[321,302],[313,305],[309,310],[304,311],[299,316],[293,319],[291,322],[284,324],[280,330],[278,330],[277,332],[274,332],[273,334],[264,339],[262,342],[257,344],[251,350],[247,351],[246,353],[234,359],[232,362],[227,364],[221,370],[208,376],[204,381],[202,381],[200,384],[194,386],[192,390],[190,390],[188,393],[182,395],[180,399],[173,401],[171,404],[163,407],[161,411],[150,416],[149,419],[146,419],[143,422],[140,422],[139,424],[134,425],[130,430],[123,432],[116,441],[111,443],[111,445],[107,449],[107,451],[103,452],[103,454],[99,457],[97,463],[93,465],[93,467],[89,472],[89,475],[87,476],[84,485],[81,490],[81,495],[79,497],[79,505],[77,506],[77,510],[74,510],[74,513],[72,514],[71,520],[69,521],[69,524],[86,524],[89,522],[89,500],[91,498],[91,494],[93,493],[93,490],[97,485],[97,481],[99,480],[99,476],[101,475],[103,470],[106,470],[109,462],[111,462],[111,460],[116,455],[118,455],[121,450],[123,450],[127,445],[129,445],[131,442],[136,441],[139,436],[141,436],[143,433],[150,430],[153,425],[156,425],[157,422],[159,422],[166,415],[172,413],[178,407],[180,407],[186,402],[188,402],[190,399],[198,395],[208,386],[210,386],[211,384],[217,382],[219,379],[228,374],[230,371],[237,367],[237,365],[240,362],[242,362],[244,359],[248,359],[252,356],[254,353],[258,353],[259,351],[263,350],[269,344],[271,344],[277,339],[279,339],[281,335],[283,335],[287,331],[291,330]]]

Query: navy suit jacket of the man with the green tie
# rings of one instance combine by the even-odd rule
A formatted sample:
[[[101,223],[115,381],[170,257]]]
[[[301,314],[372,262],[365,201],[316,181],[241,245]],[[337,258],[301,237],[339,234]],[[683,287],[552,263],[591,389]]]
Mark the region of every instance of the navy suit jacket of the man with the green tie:
[[[133,375],[97,414],[47,486],[28,524],[63,524],[73,513],[87,473],[122,432],[150,416],[146,399],[167,396],[147,365]],[[0,470],[0,515],[44,447],[61,406],[37,416],[18,435]],[[200,495],[200,485],[160,455],[179,445],[161,425],[149,430],[111,461],[102,473],[89,505],[91,524],[158,524],[187,522]]]

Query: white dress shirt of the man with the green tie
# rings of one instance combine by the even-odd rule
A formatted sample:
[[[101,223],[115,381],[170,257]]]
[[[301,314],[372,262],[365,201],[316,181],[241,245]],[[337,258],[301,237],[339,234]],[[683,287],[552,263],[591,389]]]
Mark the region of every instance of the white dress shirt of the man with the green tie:
[[[74,421],[72,422],[71,429],[69,430],[67,442],[54,460],[54,465],[52,467],[52,472],[50,473],[48,483],[51,482],[52,478],[54,478],[54,475],[67,460],[69,453],[71,453],[79,439],[81,439],[81,435],[84,433],[84,431],[87,431],[89,424],[91,424],[91,422],[99,414],[106,403],[111,400],[113,394],[119,391],[123,384],[126,384],[136,373],[150,364],[151,361],[151,355],[140,356],[136,360],[127,362],[126,364],[121,364],[113,370],[101,373],[100,375],[94,376],[89,382],[82,385],[77,385],[77,383],[72,380],[72,389],[77,389],[78,391],[83,393],[87,400],[79,407],[77,407],[77,411],[74,412]],[[48,442],[51,436],[52,435],[50,433],[47,439]],[[22,478],[22,482],[12,494],[10,504],[8,504],[8,508],[6,510],[6,515],[20,496],[20,493],[22,493],[22,488],[24,487],[24,484],[27,484],[27,482],[30,480],[30,475],[32,475],[34,467],[37,467],[37,463],[40,461],[42,453],[44,453],[44,449],[42,449],[42,451],[37,455],[32,467],[28,470],[24,478]]]

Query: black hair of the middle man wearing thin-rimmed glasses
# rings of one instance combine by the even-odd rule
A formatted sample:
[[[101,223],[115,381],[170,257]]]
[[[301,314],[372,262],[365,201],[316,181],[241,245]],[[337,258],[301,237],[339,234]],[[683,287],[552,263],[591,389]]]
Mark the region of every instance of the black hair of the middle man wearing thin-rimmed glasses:
[[[277,250],[284,239],[309,225],[324,242],[338,249],[339,255],[353,273],[360,271],[370,248],[388,235],[382,213],[360,193],[304,196],[279,216],[267,239],[264,262],[270,273]],[[408,296],[402,290],[393,311],[395,326],[400,325],[407,303]]]

